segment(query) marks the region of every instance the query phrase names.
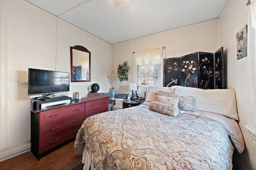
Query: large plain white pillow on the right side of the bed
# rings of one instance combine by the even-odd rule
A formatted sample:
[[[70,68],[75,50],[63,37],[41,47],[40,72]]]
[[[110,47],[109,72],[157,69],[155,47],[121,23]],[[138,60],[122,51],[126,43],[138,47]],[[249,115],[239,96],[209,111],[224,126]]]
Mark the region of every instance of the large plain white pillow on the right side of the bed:
[[[196,98],[196,110],[218,113],[238,120],[236,95],[234,89],[199,89],[172,86],[174,95],[193,96]]]

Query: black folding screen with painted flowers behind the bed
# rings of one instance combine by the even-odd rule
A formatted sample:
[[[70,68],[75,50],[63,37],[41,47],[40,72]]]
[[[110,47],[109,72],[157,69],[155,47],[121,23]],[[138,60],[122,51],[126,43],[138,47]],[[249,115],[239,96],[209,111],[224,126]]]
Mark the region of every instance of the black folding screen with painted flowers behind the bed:
[[[223,47],[213,53],[196,52],[164,59],[164,86],[224,88]]]

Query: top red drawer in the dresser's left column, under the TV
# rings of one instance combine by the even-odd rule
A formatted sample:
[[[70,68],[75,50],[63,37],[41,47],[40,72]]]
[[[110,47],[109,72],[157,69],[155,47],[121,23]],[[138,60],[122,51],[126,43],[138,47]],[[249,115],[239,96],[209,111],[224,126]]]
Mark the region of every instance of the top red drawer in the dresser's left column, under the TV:
[[[41,111],[39,116],[39,125],[46,125],[54,121],[59,121],[72,115],[84,113],[84,104],[76,104],[66,107],[60,107],[57,109]]]

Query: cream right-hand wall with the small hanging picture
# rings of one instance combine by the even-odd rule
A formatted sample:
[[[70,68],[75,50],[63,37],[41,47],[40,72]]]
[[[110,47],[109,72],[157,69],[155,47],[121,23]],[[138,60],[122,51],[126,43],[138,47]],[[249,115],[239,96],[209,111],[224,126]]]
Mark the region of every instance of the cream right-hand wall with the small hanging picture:
[[[255,101],[248,100],[250,93],[248,64],[250,57],[253,56],[248,53],[247,57],[240,60],[237,60],[236,57],[236,33],[246,24],[248,25],[249,6],[246,6],[247,1],[232,0],[228,2],[220,16],[220,46],[223,46],[227,53],[228,88],[234,88],[236,92],[239,125],[246,144],[245,151],[238,156],[247,168],[256,170],[256,146],[244,128],[248,121],[249,102],[255,104]],[[248,52],[250,51],[250,40],[251,37],[248,37]]]

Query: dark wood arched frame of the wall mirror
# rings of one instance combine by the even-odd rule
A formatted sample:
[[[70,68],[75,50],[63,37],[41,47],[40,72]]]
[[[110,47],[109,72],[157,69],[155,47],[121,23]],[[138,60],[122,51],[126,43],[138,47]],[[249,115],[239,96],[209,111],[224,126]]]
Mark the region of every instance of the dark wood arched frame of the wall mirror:
[[[78,51],[84,51],[86,53],[89,53],[89,80],[73,80],[73,51],[72,49],[78,50]],[[74,47],[70,47],[70,75],[71,75],[71,82],[90,82],[91,81],[91,52],[88,51],[88,49],[86,49],[85,47],[81,46],[81,45],[76,45]]]

